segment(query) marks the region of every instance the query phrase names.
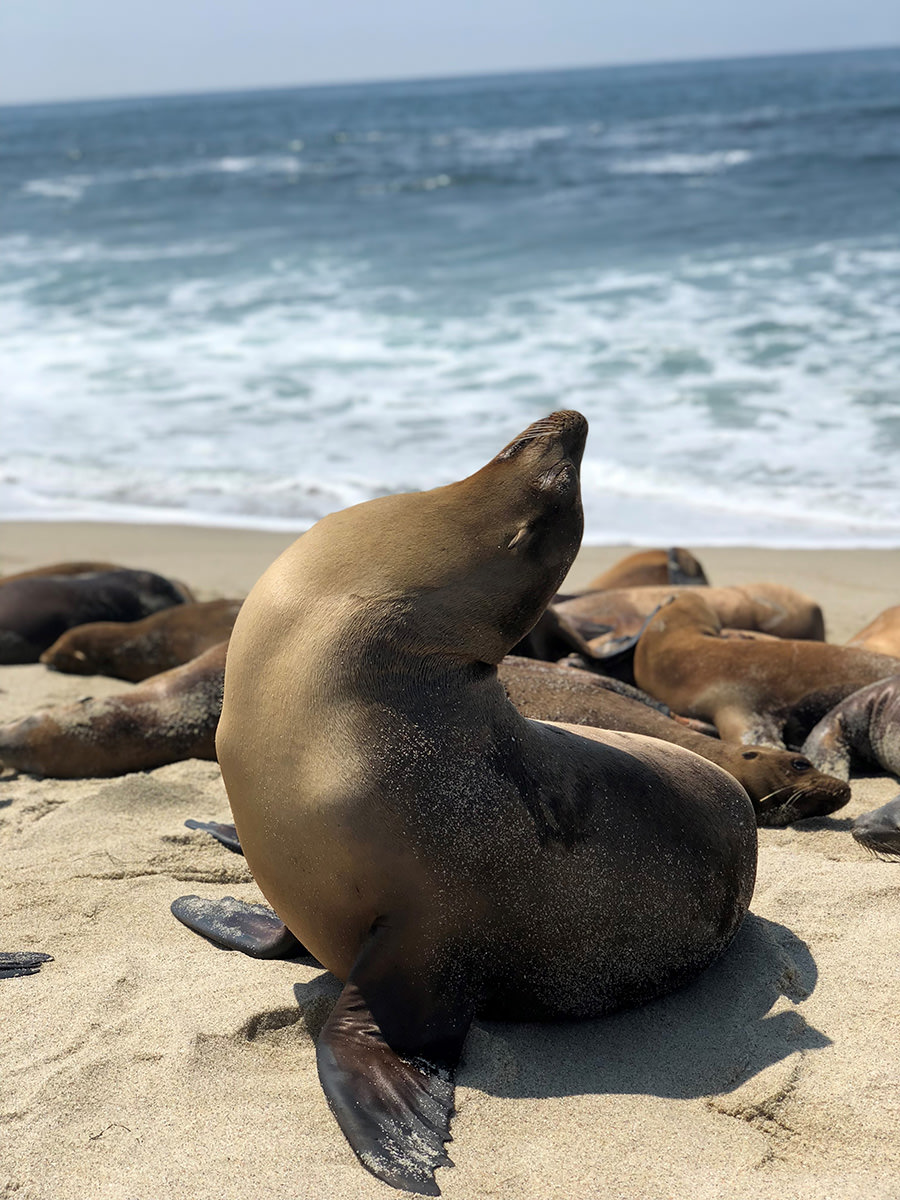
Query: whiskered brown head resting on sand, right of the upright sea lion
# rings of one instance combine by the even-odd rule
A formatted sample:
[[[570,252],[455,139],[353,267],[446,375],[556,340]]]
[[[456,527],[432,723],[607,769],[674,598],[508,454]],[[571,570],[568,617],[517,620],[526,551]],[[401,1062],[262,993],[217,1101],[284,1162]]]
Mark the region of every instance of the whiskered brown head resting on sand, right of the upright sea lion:
[[[823,817],[850,799],[850,784],[823,775],[805,755],[772,746],[746,746],[740,754],[740,782],[750,794],[761,826],[781,827]]]

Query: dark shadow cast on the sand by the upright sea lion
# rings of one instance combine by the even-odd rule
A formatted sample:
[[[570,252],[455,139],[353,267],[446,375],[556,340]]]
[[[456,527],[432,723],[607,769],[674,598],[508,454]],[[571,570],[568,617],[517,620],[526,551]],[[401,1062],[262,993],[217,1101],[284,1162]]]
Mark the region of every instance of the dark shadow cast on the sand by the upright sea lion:
[[[700,978],[641,1008],[590,1021],[479,1021],[456,1080],[510,1098],[731,1092],[797,1050],[830,1044],[796,1010],[769,1015],[781,996],[805,1000],[817,974],[805,942],[749,916]],[[294,985],[313,1038],[340,991],[328,973]]]

